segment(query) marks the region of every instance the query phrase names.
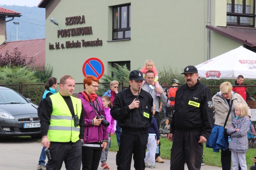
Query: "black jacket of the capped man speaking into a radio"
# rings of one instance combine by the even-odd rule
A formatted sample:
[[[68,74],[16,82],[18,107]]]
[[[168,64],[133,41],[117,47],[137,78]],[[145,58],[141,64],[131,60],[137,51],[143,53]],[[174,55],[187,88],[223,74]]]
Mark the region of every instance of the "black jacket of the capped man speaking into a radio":
[[[153,98],[148,92],[141,89],[138,97],[140,107],[130,110],[128,105],[131,104],[136,97],[137,96],[132,94],[130,86],[118,92],[110,114],[115,120],[118,120],[118,125],[122,128],[122,132],[134,135],[147,134],[153,115],[151,112]],[[143,116],[144,113],[149,114],[149,118]]]

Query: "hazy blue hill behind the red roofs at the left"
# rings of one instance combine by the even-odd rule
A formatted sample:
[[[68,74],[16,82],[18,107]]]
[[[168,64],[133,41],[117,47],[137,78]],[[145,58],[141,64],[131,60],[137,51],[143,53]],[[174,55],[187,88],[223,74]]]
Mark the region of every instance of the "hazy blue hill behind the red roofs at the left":
[[[22,15],[6,22],[7,41],[16,41],[17,26],[13,22],[19,22],[18,40],[45,38],[45,8],[17,5],[0,6]],[[12,18],[6,18],[5,20],[10,19]]]

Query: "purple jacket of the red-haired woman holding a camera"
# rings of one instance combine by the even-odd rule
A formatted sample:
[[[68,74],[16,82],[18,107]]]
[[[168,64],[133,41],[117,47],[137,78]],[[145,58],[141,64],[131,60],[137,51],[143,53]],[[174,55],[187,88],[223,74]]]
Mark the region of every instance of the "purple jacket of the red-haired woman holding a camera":
[[[85,121],[85,131],[84,131],[84,143],[93,143],[93,142],[99,142],[99,141],[108,141],[108,130],[107,127],[100,124],[99,126],[93,125],[93,119],[95,118],[96,114],[98,115],[98,112],[95,111],[94,107],[90,105],[89,102],[87,102],[80,92],[78,94],[78,98],[82,100],[83,106],[84,106],[84,121]],[[97,100],[99,102],[99,105],[97,105],[96,100],[93,101],[95,107],[98,109],[99,113],[102,114],[104,117],[106,117],[104,112],[104,107],[101,98],[98,96]],[[100,109],[99,109],[100,107]]]

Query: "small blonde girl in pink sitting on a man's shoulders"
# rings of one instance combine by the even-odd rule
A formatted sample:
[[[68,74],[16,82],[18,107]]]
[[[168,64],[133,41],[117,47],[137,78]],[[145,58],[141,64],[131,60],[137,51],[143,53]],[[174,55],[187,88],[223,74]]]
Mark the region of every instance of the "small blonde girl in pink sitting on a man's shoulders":
[[[155,68],[155,65],[153,63],[152,60],[146,60],[145,61],[145,65],[143,66],[143,68],[140,70],[142,73],[143,73],[143,78],[145,79],[146,77],[146,72],[147,71],[153,71],[154,72],[154,76],[155,76],[155,79],[154,79],[154,82],[151,84],[152,86],[155,85],[155,87],[158,87],[159,88],[159,83],[158,83],[158,73],[156,71],[156,68]],[[145,84],[145,80],[143,81],[143,84]],[[157,92],[156,93],[156,97],[160,97],[160,94]]]

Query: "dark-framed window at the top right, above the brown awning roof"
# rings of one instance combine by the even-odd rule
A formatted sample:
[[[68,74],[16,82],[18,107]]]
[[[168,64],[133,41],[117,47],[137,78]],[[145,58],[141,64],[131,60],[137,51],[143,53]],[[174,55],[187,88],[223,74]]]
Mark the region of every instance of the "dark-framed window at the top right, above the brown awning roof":
[[[227,26],[254,27],[255,0],[227,0]]]

